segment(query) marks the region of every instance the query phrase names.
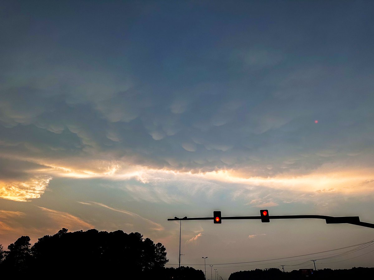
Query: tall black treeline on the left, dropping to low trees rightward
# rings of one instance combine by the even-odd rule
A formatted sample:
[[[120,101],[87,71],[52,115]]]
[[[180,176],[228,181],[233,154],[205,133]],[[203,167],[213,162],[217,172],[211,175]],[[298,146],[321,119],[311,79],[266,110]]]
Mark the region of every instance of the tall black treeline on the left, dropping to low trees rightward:
[[[19,237],[8,251],[0,245],[0,276],[204,279],[201,270],[165,268],[168,261],[161,243],[122,230],[68,232],[62,228],[39,238],[33,246],[28,236]]]

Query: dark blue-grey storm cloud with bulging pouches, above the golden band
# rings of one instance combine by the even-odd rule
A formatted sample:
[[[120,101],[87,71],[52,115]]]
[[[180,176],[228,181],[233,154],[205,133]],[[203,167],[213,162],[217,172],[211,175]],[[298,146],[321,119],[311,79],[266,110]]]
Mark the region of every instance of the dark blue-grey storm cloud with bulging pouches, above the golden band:
[[[69,18],[53,5],[29,7],[33,16],[7,5],[8,157],[267,176],[372,155],[373,41],[360,4],[360,20],[330,4],[332,15],[314,7],[315,18],[300,3],[299,13],[219,3],[207,16],[205,4],[143,4],[119,5],[108,21],[117,3],[58,4]]]

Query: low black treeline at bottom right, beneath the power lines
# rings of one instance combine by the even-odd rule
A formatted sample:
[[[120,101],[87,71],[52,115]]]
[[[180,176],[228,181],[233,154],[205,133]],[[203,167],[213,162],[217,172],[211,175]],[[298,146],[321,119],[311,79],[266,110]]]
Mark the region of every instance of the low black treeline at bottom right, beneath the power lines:
[[[229,280],[266,280],[266,279],[373,279],[373,267],[353,267],[351,269],[330,268],[313,271],[308,276],[303,275],[299,270],[283,272],[278,268],[269,268],[267,270],[247,270],[237,271],[230,275]]]

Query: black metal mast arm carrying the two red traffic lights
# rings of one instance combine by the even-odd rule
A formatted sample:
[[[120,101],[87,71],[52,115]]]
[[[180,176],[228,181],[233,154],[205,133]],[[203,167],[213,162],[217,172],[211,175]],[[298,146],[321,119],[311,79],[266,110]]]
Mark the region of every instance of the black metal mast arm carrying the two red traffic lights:
[[[324,215],[278,215],[270,216],[269,219],[323,219],[326,220],[326,224],[353,224],[361,225],[362,227],[374,228],[374,224],[361,222],[358,216],[350,217],[331,217]],[[168,221],[179,221],[179,220],[214,220],[214,217],[204,217],[204,218],[178,218],[174,217],[168,219]],[[234,216],[234,217],[221,217],[221,220],[261,220],[261,216]]]

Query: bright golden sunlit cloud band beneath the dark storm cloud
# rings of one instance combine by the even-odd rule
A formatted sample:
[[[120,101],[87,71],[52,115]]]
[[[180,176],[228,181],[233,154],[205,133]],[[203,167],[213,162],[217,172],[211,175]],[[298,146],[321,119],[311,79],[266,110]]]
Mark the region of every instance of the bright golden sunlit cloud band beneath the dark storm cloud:
[[[123,162],[92,162],[91,168],[81,169],[68,165],[52,165],[38,162],[44,167],[30,172],[25,181],[0,180],[0,197],[15,201],[30,201],[40,198],[49,185],[52,177],[68,178],[105,178],[113,181],[137,180],[144,185],[156,183],[160,186],[171,180],[185,182],[216,181],[238,184],[240,187],[264,186],[272,189],[289,190],[292,192],[317,193],[368,193],[373,192],[373,168],[342,170],[335,165],[323,165],[309,174],[277,174],[273,177],[262,177],[236,169],[220,169],[210,172],[194,172],[193,170],[155,169],[142,165],[126,166]],[[234,194],[235,197],[235,194]]]

